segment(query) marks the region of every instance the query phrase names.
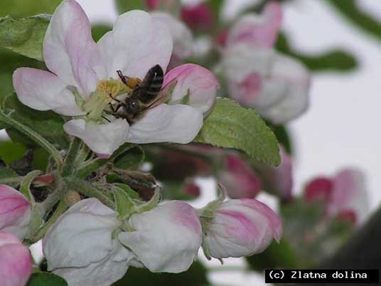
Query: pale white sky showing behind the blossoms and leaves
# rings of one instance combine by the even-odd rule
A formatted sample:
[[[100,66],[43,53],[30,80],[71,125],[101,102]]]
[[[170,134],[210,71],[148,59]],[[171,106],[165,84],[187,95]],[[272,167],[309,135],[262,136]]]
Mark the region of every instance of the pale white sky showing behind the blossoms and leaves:
[[[112,25],[117,17],[117,7],[113,0],[77,1],[92,23]],[[43,2],[41,1],[41,5],[44,5]],[[195,1],[186,2],[192,5]],[[254,2],[258,1],[227,2],[224,15],[226,18],[232,18],[242,11],[242,7],[254,6]],[[376,23],[379,21],[378,31],[373,32],[364,29],[369,21],[360,19],[359,26],[353,23],[355,14],[347,13],[347,16],[343,16],[338,12],[335,0],[281,2],[284,6],[281,31],[297,55],[308,58],[309,55],[321,55],[339,49],[353,55],[356,61],[355,68],[321,70],[312,74],[308,110],[288,125],[296,160],[293,191],[296,194],[300,193],[306,181],[312,177],[330,176],[343,166],[355,166],[366,175],[371,213],[380,206],[381,201],[378,164],[381,159],[381,132],[378,126],[381,107],[381,2],[355,1],[359,11],[373,18]],[[347,3],[353,1],[348,0]],[[9,2],[6,5],[11,7],[14,3]],[[0,16],[9,14],[9,11],[0,12]],[[33,11],[27,15],[16,16],[31,14]],[[377,25],[373,27],[377,28]],[[0,73],[0,77],[1,75]],[[1,131],[1,138],[5,140],[6,137],[4,130]],[[204,206],[215,197],[214,192],[210,191],[215,188],[215,182],[211,179],[199,179],[198,182],[202,186],[202,196],[193,201],[193,205]],[[257,198],[277,208],[277,200],[274,197],[260,194]],[[38,253],[38,247],[35,250]],[[201,254],[200,260],[210,268],[208,279],[213,285],[243,286],[264,283],[262,274],[246,271],[247,262],[244,259],[226,259],[222,266],[218,260],[207,261]]]

